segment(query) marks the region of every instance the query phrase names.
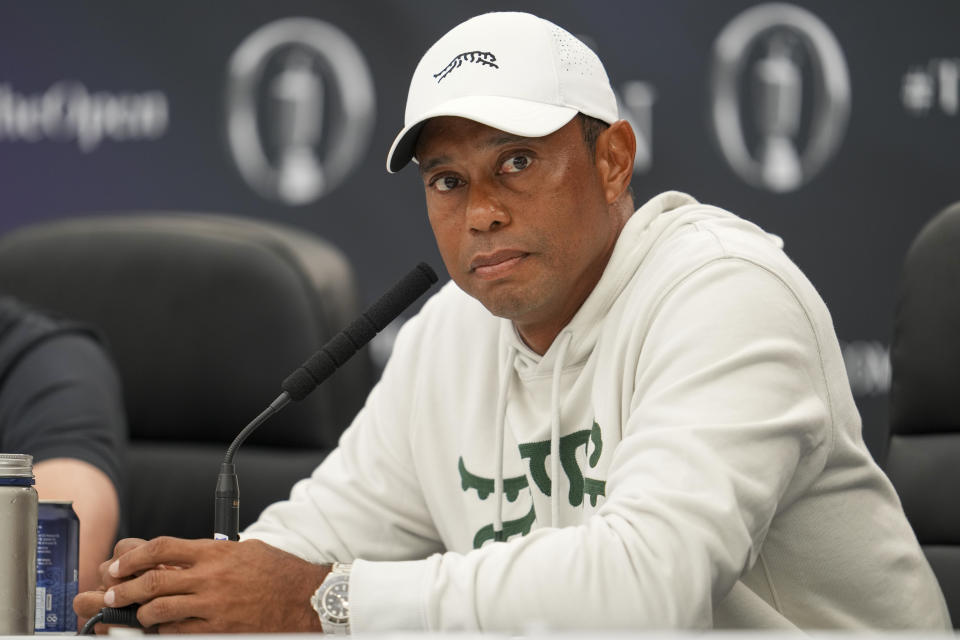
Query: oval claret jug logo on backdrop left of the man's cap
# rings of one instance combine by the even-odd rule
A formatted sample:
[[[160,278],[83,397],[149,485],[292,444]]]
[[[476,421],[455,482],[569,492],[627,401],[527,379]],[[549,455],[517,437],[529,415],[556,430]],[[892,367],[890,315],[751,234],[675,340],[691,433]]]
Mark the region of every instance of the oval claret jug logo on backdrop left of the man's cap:
[[[373,79],[340,29],[285,18],[250,34],[230,60],[227,139],[246,183],[305,205],[360,164],[373,133]]]

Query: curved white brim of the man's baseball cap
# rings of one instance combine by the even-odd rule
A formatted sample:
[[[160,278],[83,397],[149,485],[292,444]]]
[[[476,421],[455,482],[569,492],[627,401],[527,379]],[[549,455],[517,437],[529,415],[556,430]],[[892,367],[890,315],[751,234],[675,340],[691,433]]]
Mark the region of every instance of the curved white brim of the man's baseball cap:
[[[430,118],[456,116],[515,136],[539,138],[570,122],[577,109],[500,96],[468,96],[449,100],[421,114],[397,135],[387,153],[387,171],[396,173],[413,158],[420,130]]]

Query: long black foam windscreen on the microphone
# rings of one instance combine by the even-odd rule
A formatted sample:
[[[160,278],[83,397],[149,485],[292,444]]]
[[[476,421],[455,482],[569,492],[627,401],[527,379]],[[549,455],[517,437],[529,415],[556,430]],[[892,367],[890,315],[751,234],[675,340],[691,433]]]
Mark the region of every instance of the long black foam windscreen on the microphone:
[[[281,385],[292,400],[302,400],[327,379],[337,367],[350,359],[377,332],[393,322],[404,309],[422,296],[437,281],[430,265],[421,262],[386,291],[370,308],[310,356]]]

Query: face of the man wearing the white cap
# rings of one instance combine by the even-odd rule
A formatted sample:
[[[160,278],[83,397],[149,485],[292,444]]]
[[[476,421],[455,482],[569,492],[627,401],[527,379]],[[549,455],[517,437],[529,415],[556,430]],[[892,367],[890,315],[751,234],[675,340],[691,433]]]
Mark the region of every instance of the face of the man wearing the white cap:
[[[579,119],[522,138],[433,118],[417,159],[450,276],[513,320],[531,346],[535,333],[553,331],[552,341],[600,279],[623,224],[608,207]]]

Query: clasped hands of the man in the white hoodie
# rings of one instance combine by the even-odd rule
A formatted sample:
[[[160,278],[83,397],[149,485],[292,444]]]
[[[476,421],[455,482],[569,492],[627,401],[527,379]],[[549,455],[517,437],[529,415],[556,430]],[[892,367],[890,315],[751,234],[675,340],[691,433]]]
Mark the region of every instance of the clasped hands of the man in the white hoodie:
[[[258,540],[121,541],[102,565],[106,591],[74,608],[90,618],[139,603],[140,623],[161,633],[321,632],[310,596],[329,571]]]

